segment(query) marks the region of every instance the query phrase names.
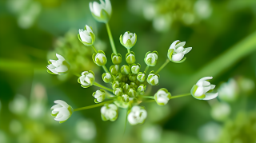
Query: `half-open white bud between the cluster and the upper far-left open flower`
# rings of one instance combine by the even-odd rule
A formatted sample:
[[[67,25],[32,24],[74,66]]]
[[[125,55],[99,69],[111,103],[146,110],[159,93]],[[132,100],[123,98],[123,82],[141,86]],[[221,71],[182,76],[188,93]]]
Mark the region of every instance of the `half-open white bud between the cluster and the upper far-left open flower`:
[[[84,71],[82,72],[82,76],[78,78],[78,83],[80,83],[83,88],[87,88],[90,87],[90,85],[94,85],[94,80],[93,71]]]

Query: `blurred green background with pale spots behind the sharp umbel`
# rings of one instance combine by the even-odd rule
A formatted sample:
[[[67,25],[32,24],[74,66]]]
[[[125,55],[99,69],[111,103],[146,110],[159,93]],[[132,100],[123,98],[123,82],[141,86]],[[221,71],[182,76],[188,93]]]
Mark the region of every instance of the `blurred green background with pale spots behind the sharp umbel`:
[[[108,59],[112,53],[106,26],[91,16],[89,2],[0,1],[1,143],[256,142],[255,0],[111,0],[110,28],[118,53],[126,54],[120,34],[136,33],[138,42],[132,50],[142,69],[149,50],[158,51],[154,67],[158,70],[175,40],[193,47],[186,62],[170,63],[162,70],[152,95],[160,87],[172,95],[188,93],[199,78],[213,76],[216,92],[227,88],[231,98],[225,98],[224,92],[211,101],[191,96],[166,106],[143,103],[148,112],[145,124],[127,125],[124,137],[126,111],[122,109],[114,122],[102,121],[99,107],[74,113],[63,124],[54,121],[50,116],[54,100],[74,108],[93,105],[91,94],[98,88],[81,88],[72,74],[50,75],[48,59],[61,54],[73,70],[93,70],[96,81],[102,82],[103,70],[94,65],[93,51],[77,38],[78,29],[86,24],[95,31],[95,47],[104,50]],[[109,60],[106,66],[110,65]],[[229,79],[233,86],[225,86]]]

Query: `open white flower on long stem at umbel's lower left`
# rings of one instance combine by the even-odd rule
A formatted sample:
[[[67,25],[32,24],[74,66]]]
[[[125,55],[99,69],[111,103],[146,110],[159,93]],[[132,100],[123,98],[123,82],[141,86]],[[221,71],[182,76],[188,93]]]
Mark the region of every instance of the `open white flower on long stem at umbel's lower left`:
[[[73,113],[73,108],[68,105],[65,101],[57,100],[54,101],[56,105],[53,105],[50,109],[53,109],[51,115],[54,116],[54,120],[62,123],[66,121]]]

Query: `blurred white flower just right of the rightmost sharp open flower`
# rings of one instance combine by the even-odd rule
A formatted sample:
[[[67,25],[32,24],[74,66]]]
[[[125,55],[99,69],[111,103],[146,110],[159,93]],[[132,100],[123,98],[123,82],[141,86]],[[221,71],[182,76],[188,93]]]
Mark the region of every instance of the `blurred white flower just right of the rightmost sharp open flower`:
[[[236,81],[231,78],[226,83],[222,83],[218,88],[218,97],[223,101],[235,101],[238,97],[238,85]]]

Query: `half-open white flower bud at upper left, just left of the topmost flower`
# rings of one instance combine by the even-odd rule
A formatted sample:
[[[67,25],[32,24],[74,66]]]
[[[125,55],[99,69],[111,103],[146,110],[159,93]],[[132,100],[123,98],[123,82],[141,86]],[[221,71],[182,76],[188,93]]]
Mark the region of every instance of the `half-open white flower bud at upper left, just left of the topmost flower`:
[[[85,30],[79,30],[78,39],[85,46],[94,45],[95,34],[90,26],[85,26]]]

